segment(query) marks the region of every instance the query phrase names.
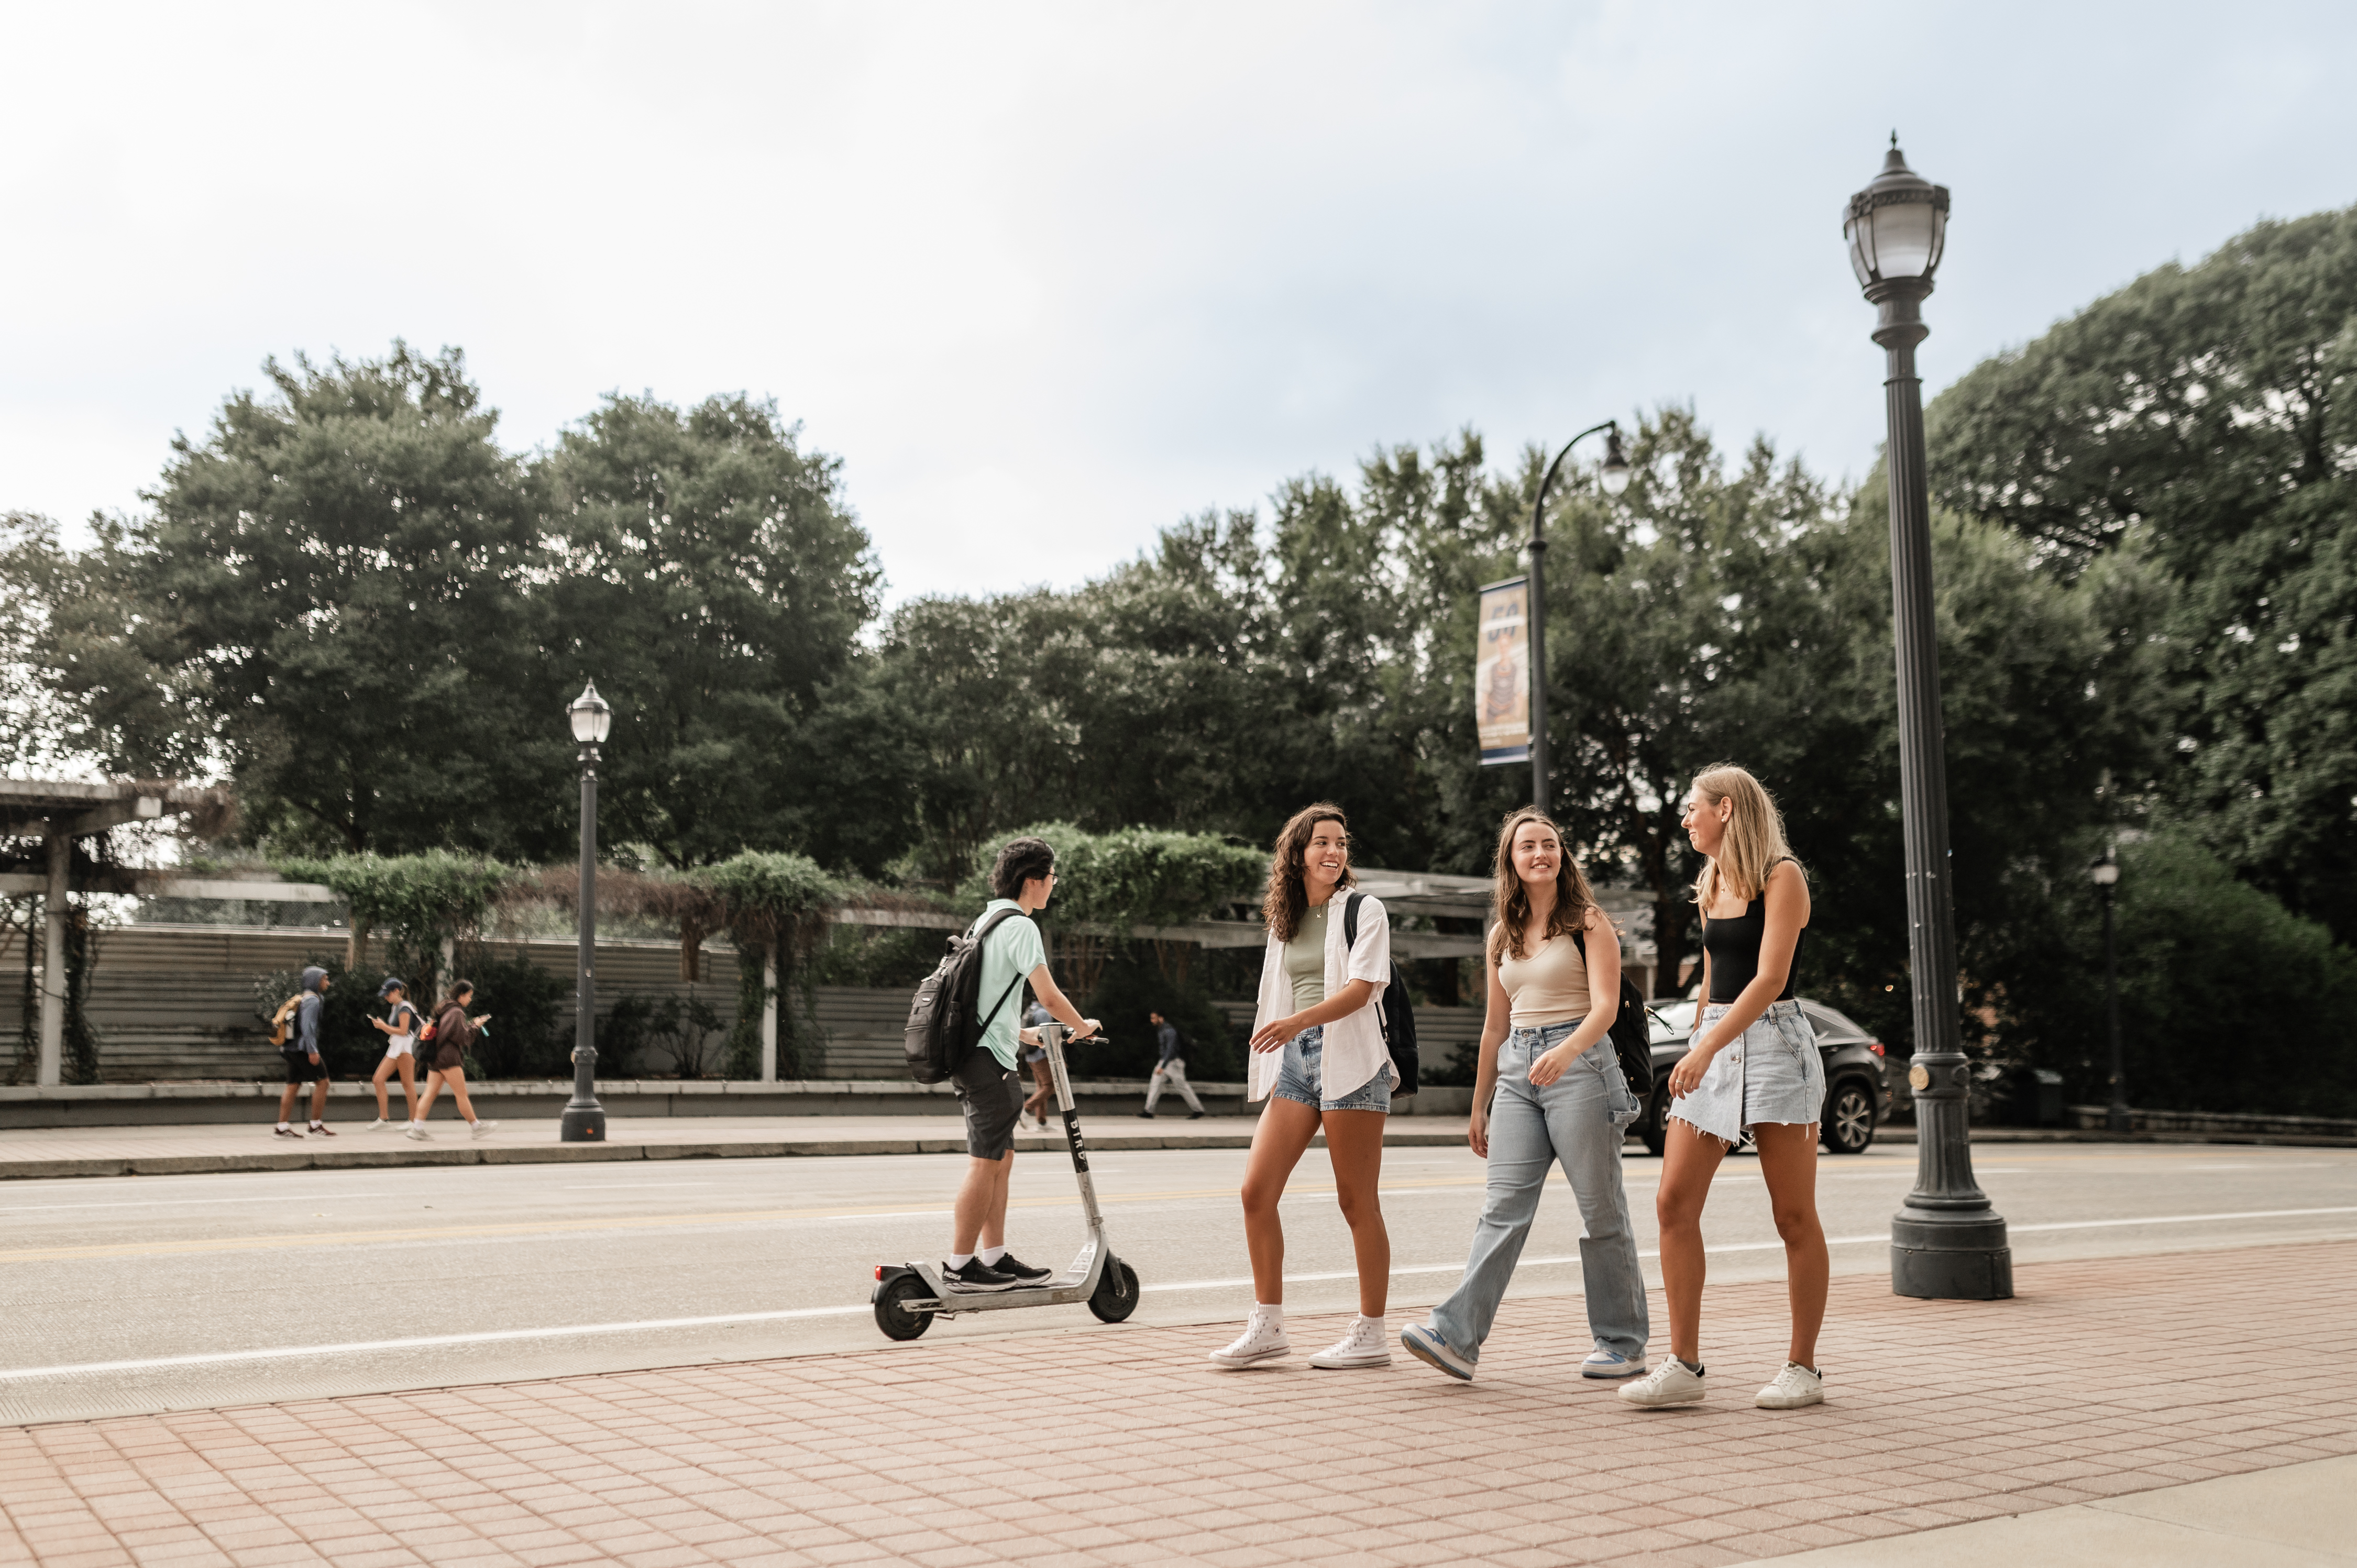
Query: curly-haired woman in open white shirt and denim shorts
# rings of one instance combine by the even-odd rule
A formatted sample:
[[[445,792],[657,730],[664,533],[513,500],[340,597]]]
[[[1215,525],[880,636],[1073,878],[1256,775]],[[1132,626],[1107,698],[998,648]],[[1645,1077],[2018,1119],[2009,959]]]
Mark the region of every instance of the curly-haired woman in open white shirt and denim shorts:
[[[1339,806],[1294,813],[1268,863],[1268,953],[1252,1021],[1244,1099],[1268,1099],[1244,1162],[1244,1245],[1252,1252],[1252,1318],[1211,1361],[1249,1368],[1289,1356],[1285,1339],[1285,1226],[1277,1200],[1310,1139],[1327,1134],[1334,1195],[1358,1254],[1358,1320],[1313,1368],[1391,1365],[1384,1299],[1391,1238],[1376,1203],[1384,1120],[1398,1070],[1384,1047],[1376,997],[1391,981],[1391,920],[1376,898],[1351,891],[1351,830]],[[1343,941],[1358,898],[1355,941]]]

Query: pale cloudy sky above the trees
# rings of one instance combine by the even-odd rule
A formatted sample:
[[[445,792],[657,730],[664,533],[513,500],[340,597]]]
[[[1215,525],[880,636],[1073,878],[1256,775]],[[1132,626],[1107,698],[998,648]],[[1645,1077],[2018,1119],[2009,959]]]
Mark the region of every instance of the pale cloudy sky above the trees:
[[[2357,203],[2357,7],[12,9],[0,507],[134,512],[262,361],[467,351],[533,450],[752,391],[889,599],[1072,585],[1473,427],[1692,403],[1862,476],[1841,210],[1954,191],[1928,389]],[[2338,87],[2333,83],[2341,83]]]

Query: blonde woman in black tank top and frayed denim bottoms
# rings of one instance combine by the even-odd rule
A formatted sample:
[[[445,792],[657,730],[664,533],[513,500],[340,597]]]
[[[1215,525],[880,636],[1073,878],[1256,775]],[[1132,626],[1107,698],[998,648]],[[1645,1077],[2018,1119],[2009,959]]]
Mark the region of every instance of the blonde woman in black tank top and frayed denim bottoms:
[[[1784,846],[1784,818],[1761,780],[1737,766],[1704,769],[1685,804],[1685,837],[1709,856],[1695,882],[1702,910],[1702,1009],[1685,1056],[1669,1070],[1669,1144],[1662,1153],[1662,1294],[1671,1358],[1622,1389],[1631,1405],[1690,1405],[1702,1382],[1702,1203],[1718,1160],[1744,1137],[1758,1144],[1768,1205],[1784,1238],[1791,1346],[1784,1370],[1751,1401],[1796,1410],[1824,1401],[1817,1327],[1827,1257],[1817,1224],[1817,1115],[1824,1063],[1794,1000],[1794,964],[1808,929],[1808,879]]]

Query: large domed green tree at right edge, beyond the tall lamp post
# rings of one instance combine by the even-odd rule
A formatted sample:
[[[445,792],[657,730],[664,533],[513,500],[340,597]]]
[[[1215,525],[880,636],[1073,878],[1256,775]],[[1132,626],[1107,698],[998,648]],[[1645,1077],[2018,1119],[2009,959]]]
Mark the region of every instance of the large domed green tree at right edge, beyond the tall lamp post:
[[[2072,575],[2176,585],[2154,790],[2239,875],[2357,934],[2357,207],[2258,224],[1940,394],[1949,507]]]

